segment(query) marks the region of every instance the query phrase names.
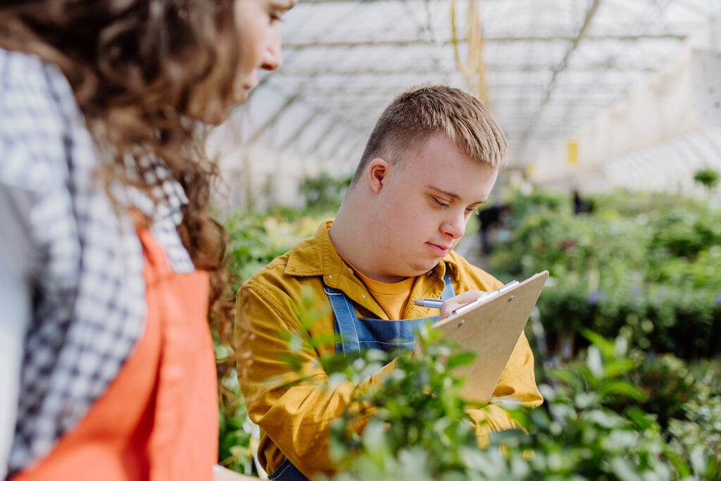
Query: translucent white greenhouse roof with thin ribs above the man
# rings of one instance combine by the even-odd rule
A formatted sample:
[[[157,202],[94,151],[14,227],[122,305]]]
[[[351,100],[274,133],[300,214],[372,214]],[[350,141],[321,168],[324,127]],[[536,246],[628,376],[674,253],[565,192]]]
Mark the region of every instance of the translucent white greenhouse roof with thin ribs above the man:
[[[348,169],[395,94],[440,82],[489,105],[522,167],[719,14],[721,0],[301,0],[283,66],[216,137]]]

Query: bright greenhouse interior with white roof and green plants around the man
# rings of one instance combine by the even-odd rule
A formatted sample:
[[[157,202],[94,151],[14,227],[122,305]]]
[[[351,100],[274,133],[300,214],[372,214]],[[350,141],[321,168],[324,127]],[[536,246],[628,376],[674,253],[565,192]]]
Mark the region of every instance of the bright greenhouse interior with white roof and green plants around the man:
[[[386,105],[436,83],[509,145],[456,250],[504,282],[550,273],[525,436],[460,460],[431,423],[450,408],[389,384],[374,399],[409,427],[336,436],[338,479],[721,479],[721,3],[301,0],[283,22],[283,65],[209,138],[242,278],[335,215]],[[226,415],[225,462],[265,475]]]

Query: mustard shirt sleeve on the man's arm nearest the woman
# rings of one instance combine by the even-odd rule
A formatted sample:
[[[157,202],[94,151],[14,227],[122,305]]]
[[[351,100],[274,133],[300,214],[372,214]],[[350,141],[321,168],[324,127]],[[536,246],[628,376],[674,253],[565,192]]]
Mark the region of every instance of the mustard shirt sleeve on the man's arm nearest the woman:
[[[328,455],[331,421],[342,416],[358,389],[379,385],[394,363],[360,383],[346,381],[324,389],[328,376],[309,343],[304,341],[299,351],[302,374],[284,361],[291,353],[285,339],[303,330],[291,314],[291,299],[270,299],[259,288],[244,287],[238,294],[238,377],[249,417],[305,475],[331,474],[335,472]],[[373,412],[371,407],[358,407],[358,431]]]

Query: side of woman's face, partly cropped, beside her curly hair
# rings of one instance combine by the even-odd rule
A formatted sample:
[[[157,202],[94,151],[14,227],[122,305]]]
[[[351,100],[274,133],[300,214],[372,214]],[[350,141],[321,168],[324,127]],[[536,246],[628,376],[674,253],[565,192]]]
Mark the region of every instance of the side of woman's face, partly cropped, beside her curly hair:
[[[260,69],[278,69],[280,17],[296,0],[235,0],[240,61],[235,81],[235,101],[245,102],[258,83]]]

